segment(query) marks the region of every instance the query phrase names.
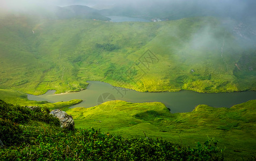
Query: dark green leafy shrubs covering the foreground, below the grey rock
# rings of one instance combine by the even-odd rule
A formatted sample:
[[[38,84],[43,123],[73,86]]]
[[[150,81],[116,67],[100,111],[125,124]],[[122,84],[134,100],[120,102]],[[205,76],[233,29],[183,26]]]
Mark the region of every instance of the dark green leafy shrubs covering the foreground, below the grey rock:
[[[125,138],[95,129],[64,130],[49,108],[0,100],[2,160],[222,160],[213,139],[194,148],[162,139]]]

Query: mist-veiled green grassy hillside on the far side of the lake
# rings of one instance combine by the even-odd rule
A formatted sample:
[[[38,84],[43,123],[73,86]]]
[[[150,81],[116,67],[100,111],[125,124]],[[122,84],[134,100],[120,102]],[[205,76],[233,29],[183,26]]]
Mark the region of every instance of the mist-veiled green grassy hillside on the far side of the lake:
[[[78,91],[86,88],[86,80],[137,91],[223,92],[256,87],[255,63],[248,63],[255,60],[255,50],[239,47],[215,18],[107,23],[81,19],[39,22],[9,16],[0,21],[0,89],[31,94]],[[97,48],[97,43],[114,48]],[[138,79],[142,74],[138,58],[148,49],[159,62],[150,64],[147,75]],[[130,67],[134,67],[129,74],[132,80],[126,75]]]

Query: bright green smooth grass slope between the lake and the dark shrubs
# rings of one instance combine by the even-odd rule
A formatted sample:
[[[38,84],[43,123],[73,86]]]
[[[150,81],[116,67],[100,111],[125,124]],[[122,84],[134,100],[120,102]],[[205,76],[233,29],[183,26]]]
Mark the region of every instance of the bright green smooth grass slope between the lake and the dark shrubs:
[[[256,100],[231,108],[199,105],[193,112],[171,114],[162,103],[107,102],[67,111],[78,128],[100,128],[128,137],[164,138],[182,145],[215,137],[228,158],[255,155]]]

